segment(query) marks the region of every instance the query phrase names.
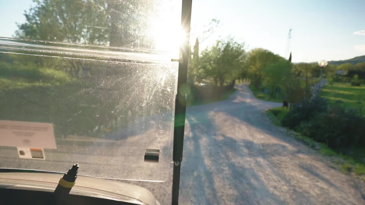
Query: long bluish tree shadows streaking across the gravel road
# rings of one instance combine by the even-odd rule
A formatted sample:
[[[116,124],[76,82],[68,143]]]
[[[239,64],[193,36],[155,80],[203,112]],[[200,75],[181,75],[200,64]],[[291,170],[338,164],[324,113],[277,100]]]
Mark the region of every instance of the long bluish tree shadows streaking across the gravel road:
[[[271,160],[283,157],[296,160],[296,155],[315,155],[315,151],[301,152],[302,148],[308,148],[293,138],[287,138],[282,130],[270,123],[264,111],[274,106],[266,106],[266,102],[255,99],[240,99],[250,96],[249,92],[238,90],[229,100],[224,101],[224,107],[218,107],[221,104],[213,103],[188,108],[182,167],[184,174],[181,175],[182,197],[195,196],[193,198],[198,201],[189,201],[190,204],[228,204],[233,203],[233,200],[235,204],[254,204],[257,202],[255,197],[259,197],[260,202],[267,200],[270,204],[284,204],[288,201],[281,201],[281,193],[273,190],[276,189],[276,185],[284,185],[292,193],[290,200],[293,202],[315,203],[314,193],[295,183],[290,174],[284,173],[282,170],[285,167],[277,164],[280,160]],[[222,120],[215,121],[217,118],[210,116],[217,113],[230,116],[232,123],[245,123],[254,131],[270,135],[277,139],[278,143],[255,143],[249,140],[250,138],[233,138],[222,134],[224,131],[220,129],[224,125],[219,126]],[[265,118],[266,120],[263,120]],[[237,137],[237,134],[234,135]],[[306,162],[295,162],[294,165],[299,165],[300,170],[343,192],[333,182],[309,169],[310,165]],[[195,171],[201,175],[191,176]],[[279,182],[274,183],[275,186],[270,184],[270,180],[273,179],[266,179],[266,173]],[[189,190],[185,191],[186,187]],[[224,194],[221,190],[224,190]],[[188,194],[194,191],[197,193]]]

